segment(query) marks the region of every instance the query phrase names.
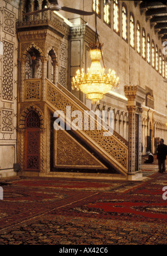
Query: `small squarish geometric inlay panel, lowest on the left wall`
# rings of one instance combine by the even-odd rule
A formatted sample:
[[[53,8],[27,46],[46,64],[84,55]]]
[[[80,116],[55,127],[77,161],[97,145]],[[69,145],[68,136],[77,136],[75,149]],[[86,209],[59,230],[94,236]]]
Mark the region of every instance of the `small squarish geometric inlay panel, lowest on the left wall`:
[[[1,132],[13,133],[13,110],[1,109]]]

